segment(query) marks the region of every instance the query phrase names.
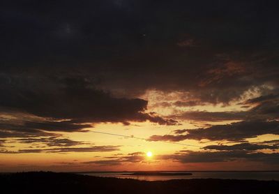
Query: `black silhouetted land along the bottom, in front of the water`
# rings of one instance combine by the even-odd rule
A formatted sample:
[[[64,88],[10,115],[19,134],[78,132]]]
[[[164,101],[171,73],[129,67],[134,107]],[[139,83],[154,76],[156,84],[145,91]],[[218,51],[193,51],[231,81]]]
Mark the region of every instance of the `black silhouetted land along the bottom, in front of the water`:
[[[137,181],[54,172],[0,174],[0,193],[279,193],[279,181]]]

